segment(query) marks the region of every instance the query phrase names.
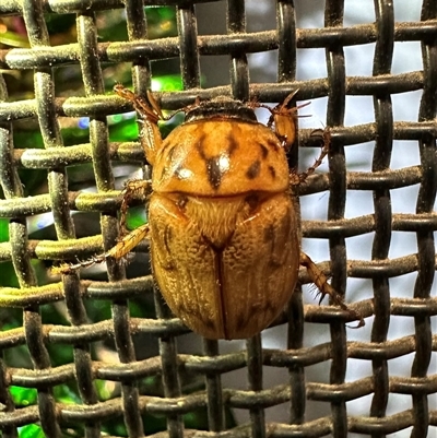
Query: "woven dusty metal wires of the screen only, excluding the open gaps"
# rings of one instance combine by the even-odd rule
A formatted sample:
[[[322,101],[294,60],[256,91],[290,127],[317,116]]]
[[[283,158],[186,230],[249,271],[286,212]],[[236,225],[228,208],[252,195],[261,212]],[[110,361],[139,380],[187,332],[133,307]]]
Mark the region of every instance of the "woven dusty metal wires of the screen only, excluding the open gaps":
[[[137,0],[0,2],[0,19],[23,17],[31,42],[28,49],[0,50],[2,74],[28,71],[33,74],[35,93],[31,97],[8,97],[7,82],[0,75],[0,179],[4,194],[0,216],[10,220],[10,237],[0,244],[0,260],[12,261],[19,283],[19,287],[0,289],[3,436],[16,437],[23,426],[37,424],[48,437],[97,437],[107,430],[111,435],[140,437],[147,430],[158,430],[151,427],[156,418],[165,419],[166,431],[162,434],[172,437],[212,436],[197,430],[204,427],[216,433],[213,436],[226,437],[345,437],[353,433],[381,437],[405,429],[414,437],[432,436],[437,426],[437,374],[432,368],[437,350],[437,334],[432,331],[432,318],[437,315],[434,280],[437,215],[433,210],[437,188],[437,2],[424,0],[421,19],[415,22],[394,22],[392,3],[395,7],[397,1],[375,0],[374,4],[368,2],[375,9],[375,23],[345,27],[344,2],[327,0],[324,27],[297,28],[294,3],[298,7],[300,2],[277,0],[275,4],[267,2],[268,8],[275,8],[276,27],[248,33],[245,2],[229,0],[217,2],[223,3],[224,12],[227,9],[227,19],[223,16],[226,34],[201,36],[194,5],[205,3],[201,4],[202,10],[208,11],[216,3],[165,0],[145,3],[175,5],[177,36],[149,40],[143,2]],[[321,2],[312,3],[314,8],[323,7]],[[129,40],[99,43],[96,13],[120,8],[126,10]],[[46,23],[48,13],[75,14],[76,43],[51,44]],[[210,15],[208,20],[215,17]],[[393,48],[401,42],[420,43],[422,71],[391,73]],[[368,44],[375,44],[371,74],[346,75],[345,47]],[[314,48],[326,50],[327,76],[296,80],[298,51]],[[277,54],[277,80],[253,83],[249,80],[247,56],[262,51]],[[199,61],[209,56],[226,56],[229,75],[223,80],[226,85],[200,90]],[[335,307],[304,305],[302,294],[296,293],[287,311],[276,321],[276,325],[286,328],[282,348],[267,348],[261,336],[256,336],[246,345],[238,344],[243,346],[240,350],[226,353],[224,344],[203,341],[202,351],[191,354],[192,350],[184,351],[188,330],[168,313],[157,295],[153,298],[150,275],[126,280],[122,263],[113,263],[108,265],[108,281],[80,280],[78,275],[60,280],[47,273],[37,276],[34,259],[86,259],[116,242],[121,198],[116,190],[114,165],[144,163],[144,158],[138,142],[108,140],[107,116],[126,110],[127,105],[113,94],[105,94],[103,69],[131,62],[135,92],[144,93],[154,73],[155,64],[151,68],[151,61],[165,59],[180,61],[184,85],[182,92],[156,94],[166,109],[180,108],[196,96],[203,99],[233,95],[276,103],[296,88],[299,100],[328,97],[327,125],[332,130],[329,174],[310,178],[303,187],[303,199],[308,193],[329,192],[328,220],[304,221],[303,232],[306,238],[328,242],[330,261],[321,263],[321,268],[332,275],[335,289],[345,291],[350,279],[370,279],[363,295],[356,295],[355,307],[367,318],[370,328],[365,331],[367,338],[351,341],[351,336],[359,336],[358,330],[346,331]],[[74,97],[75,92],[70,96],[55,92],[54,69],[66,66],[80,66],[83,97]],[[113,80],[121,81],[116,74]],[[413,91],[421,92],[416,120],[393,121],[393,96]],[[345,127],[346,96],[373,97],[375,121]],[[60,121],[85,116],[90,117],[88,141],[66,147]],[[37,121],[44,149],[24,150],[13,141],[12,128],[20,130],[22,120]],[[310,145],[311,131],[300,130],[302,145]],[[418,165],[390,168],[395,140],[401,144],[415,142]],[[371,142],[368,166],[371,170],[351,171],[345,151],[365,142]],[[402,153],[408,154],[408,150]],[[295,159],[296,153],[291,157],[292,162]],[[67,169],[85,163],[93,165],[95,193],[74,191],[69,181]],[[22,169],[46,169],[47,190],[26,197],[19,173]],[[414,212],[393,212],[391,192],[414,185],[420,187],[412,201]],[[373,194],[371,214],[345,216],[346,200],[354,190]],[[76,238],[78,234],[88,232],[74,227],[75,211],[99,213],[102,233]],[[56,237],[29,238],[27,220],[46,212],[54,215]],[[95,221],[95,216],[90,221]],[[389,258],[391,238],[397,232],[415,236],[417,249]],[[368,260],[347,259],[346,239],[355,236],[367,236],[371,241]],[[144,245],[138,251],[143,250],[146,251]],[[402,283],[392,286],[393,277],[411,273],[413,284],[405,281],[404,286]],[[302,281],[305,283],[305,276]],[[351,299],[347,293],[345,296]],[[154,301],[156,318],[132,315],[130,303],[138,299]],[[110,315],[107,318],[90,315],[86,307],[90,301],[109,301]],[[64,323],[45,323],[44,309],[52,305],[64,309]],[[16,308],[23,309],[22,327],[10,328],[8,309]],[[406,318],[412,329],[409,335],[390,336],[390,324],[395,317]],[[329,332],[329,341],[320,343],[316,338],[308,345],[304,338],[305,321],[306,332],[314,325],[321,327]],[[188,344],[199,346],[194,335],[188,340]],[[14,362],[12,353],[19,348],[28,353],[32,366]],[[60,348],[72,351],[72,359],[55,366],[52,352]],[[411,364],[402,365],[403,372],[397,374],[390,364],[403,357],[412,358]],[[356,359],[368,365],[368,372],[347,380],[346,372]],[[329,369],[326,382],[310,372],[316,365]],[[281,383],[265,382],[263,375],[271,369],[284,372]],[[247,375],[243,388],[224,383],[226,375],[235,370]],[[153,390],[144,389],[146,379],[155,379]],[[190,390],[187,381],[191,383]],[[105,400],[98,389],[102,382],[114,382],[114,391]],[[56,392],[66,384],[76,394],[68,402]],[[12,391],[16,387],[35,389],[35,402],[17,405]],[[408,396],[409,404],[388,412],[389,400],[397,394]],[[359,404],[362,400],[367,400],[366,410],[354,411],[351,403]],[[311,402],[323,407],[309,414]],[[269,419],[270,407],[284,410],[286,418]],[[202,409],[206,412],[206,425],[191,423],[185,427],[184,415]],[[229,410],[249,413],[247,422],[236,426],[227,418]],[[120,418],[125,427],[119,434],[108,426],[115,418]]]

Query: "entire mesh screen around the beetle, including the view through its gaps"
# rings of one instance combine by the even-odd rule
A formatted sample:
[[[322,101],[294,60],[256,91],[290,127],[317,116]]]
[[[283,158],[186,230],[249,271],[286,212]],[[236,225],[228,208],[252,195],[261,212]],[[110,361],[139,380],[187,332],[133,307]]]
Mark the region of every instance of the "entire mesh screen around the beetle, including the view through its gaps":
[[[402,4],[0,2],[4,437],[436,433],[437,2],[409,2],[406,19]],[[55,275],[116,244],[121,181],[150,175],[133,116],[111,117],[132,109],[116,82],[154,90],[164,109],[295,90],[311,100],[291,166],[312,162],[315,129],[329,127],[331,144],[324,171],[300,187],[304,249],[366,327],[298,287],[262,334],[202,340],[154,291],[146,242],[128,263]]]

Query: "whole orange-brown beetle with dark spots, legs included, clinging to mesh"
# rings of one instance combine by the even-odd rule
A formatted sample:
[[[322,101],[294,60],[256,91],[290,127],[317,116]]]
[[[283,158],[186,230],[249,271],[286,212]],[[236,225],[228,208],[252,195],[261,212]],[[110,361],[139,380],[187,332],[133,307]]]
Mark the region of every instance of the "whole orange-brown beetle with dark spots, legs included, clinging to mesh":
[[[287,106],[295,93],[274,108],[228,97],[197,99],[163,140],[157,123],[166,118],[153,94],[143,98],[119,84],[115,92],[141,116],[141,141],[153,168],[151,181],[128,184],[121,227],[131,193],[151,188],[149,223],[72,269],[118,259],[149,238],[152,272],[172,311],[206,339],[232,340],[269,327],[304,265],[322,297],[329,294],[363,324],[300,250],[296,187],[321,164],[329,139],[311,168],[290,171],[286,152],[295,141],[297,108]],[[267,125],[255,114],[261,107],[271,115]]]

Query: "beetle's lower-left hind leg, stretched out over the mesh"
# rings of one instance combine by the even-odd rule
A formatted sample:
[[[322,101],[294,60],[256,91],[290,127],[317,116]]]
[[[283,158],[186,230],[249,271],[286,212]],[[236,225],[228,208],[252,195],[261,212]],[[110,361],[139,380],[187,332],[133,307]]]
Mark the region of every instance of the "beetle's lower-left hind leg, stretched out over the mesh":
[[[90,268],[94,264],[103,263],[107,259],[120,260],[127,256],[137,245],[139,245],[143,239],[150,238],[150,226],[149,224],[141,225],[133,232],[125,236],[115,247],[109,249],[109,251],[94,256],[88,260],[80,261],[78,263],[63,263],[59,267],[54,267],[51,272],[54,274],[70,274],[80,268]]]

